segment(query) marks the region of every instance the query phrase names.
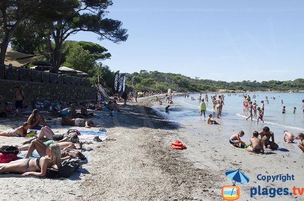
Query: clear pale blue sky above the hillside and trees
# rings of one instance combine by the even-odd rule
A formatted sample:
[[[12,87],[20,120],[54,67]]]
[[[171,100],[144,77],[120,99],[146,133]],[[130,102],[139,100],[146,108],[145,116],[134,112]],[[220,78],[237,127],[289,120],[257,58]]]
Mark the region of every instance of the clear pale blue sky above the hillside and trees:
[[[108,49],[121,72],[160,71],[215,81],[303,78],[304,1],[112,0],[123,22],[120,45],[77,33],[69,39]]]

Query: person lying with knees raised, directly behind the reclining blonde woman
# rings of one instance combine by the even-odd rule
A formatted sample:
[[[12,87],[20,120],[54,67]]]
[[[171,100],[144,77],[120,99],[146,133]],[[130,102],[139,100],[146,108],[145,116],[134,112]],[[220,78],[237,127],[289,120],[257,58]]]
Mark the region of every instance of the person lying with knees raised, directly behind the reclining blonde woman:
[[[55,143],[55,144],[59,145],[58,143]],[[59,145],[59,147],[61,148],[60,145]],[[33,141],[31,141],[31,143],[29,145],[25,158],[29,158],[30,156],[32,156],[34,149],[37,150],[37,152],[39,153],[40,156],[45,156],[45,155],[47,155],[47,151],[48,151],[49,147],[40,140],[37,140],[37,139],[33,140]],[[75,150],[74,148],[71,149],[71,148],[67,148],[67,147],[63,148],[63,150],[61,151],[61,155],[60,155],[62,160],[68,159],[70,157],[77,157],[77,156],[80,157],[82,160],[84,159],[84,155],[81,152]]]

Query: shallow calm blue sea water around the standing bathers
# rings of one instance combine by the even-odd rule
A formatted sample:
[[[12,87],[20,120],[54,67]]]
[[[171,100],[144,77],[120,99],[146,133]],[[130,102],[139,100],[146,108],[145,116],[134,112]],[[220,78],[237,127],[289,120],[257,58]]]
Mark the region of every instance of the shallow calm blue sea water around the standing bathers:
[[[202,98],[205,98],[206,94],[202,94]],[[252,132],[257,130],[261,131],[263,127],[268,126],[275,134],[275,141],[282,145],[284,131],[290,131],[295,136],[297,133],[304,133],[304,112],[302,111],[302,100],[304,99],[304,93],[245,93],[245,94],[218,94],[224,95],[224,105],[220,119],[216,117],[216,109],[213,110],[211,97],[215,94],[208,93],[209,103],[207,103],[206,118],[204,114],[200,117],[199,112],[199,94],[189,94],[189,97],[175,96],[173,97],[173,104],[166,112],[165,107],[168,105],[163,99],[163,105],[154,105],[154,109],[157,110],[165,119],[178,125],[200,125],[207,124],[208,114],[213,114],[213,119],[223,126],[223,133],[225,138],[229,138],[230,135],[237,133],[239,130],[245,132],[245,138],[249,141]],[[249,95],[251,101],[256,101],[257,107],[261,105],[261,101],[264,101],[264,123],[258,122],[257,117],[253,117],[253,121],[246,118],[250,115],[249,112],[243,111],[243,96]],[[255,95],[255,98],[252,98]],[[265,101],[265,97],[268,97],[269,103]],[[192,100],[194,97],[195,100]],[[273,99],[275,97],[275,99]],[[283,103],[282,103],[283,101]],[[205,101],[206,102],[206,101]],[[286,113],[282,113],[283,106],[286,107]],[[293,108],[296,107],[295,113]],[[258,115],[258,112],[257,112]],[[209,126],[209,125],[208,125]],[[216,125],[210,125],[216,126]],[[203,127],[201,127],[203,129]],[[225,131],[226,128],[226,131]],[[198,135],[199,138],[199,135]],[[295,141],[296,142],[296,141]],[[296,144],[293,148],[298,149]],[[298,150],[297,150],[298,151]]]

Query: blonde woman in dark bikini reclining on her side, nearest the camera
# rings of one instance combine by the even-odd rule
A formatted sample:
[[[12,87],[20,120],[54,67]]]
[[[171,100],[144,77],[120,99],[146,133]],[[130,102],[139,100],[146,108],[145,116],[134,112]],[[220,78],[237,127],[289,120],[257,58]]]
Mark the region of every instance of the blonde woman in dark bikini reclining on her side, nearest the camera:
[[[45,156],[39,158],[23,158],[15,160],[9,164],[0,165],[0,174],[5,172],[23,173],[22,176],[33,175],[44,177],[47,168],[60,169],[61,167],[61,150],[58,144],[52,144],[46,151]]]

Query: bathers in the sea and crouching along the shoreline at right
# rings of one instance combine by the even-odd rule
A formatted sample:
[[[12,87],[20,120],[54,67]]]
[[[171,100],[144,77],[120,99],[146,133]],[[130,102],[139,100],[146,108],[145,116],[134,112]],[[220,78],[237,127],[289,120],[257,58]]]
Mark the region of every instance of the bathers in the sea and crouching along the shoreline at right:
[[[251,121],[253,120],[253,117],[257,117],[257,124],[260,121],[264,123],[263,115],[264,115],[264,101],[261,101],[261,105],[257,107],[256,101],[252,101],[250,95],[247,94],[227,94],[227,96],[240,96],[243,97],[243,111],[246,113],[249,113],[249,116],[246,118],[246,121],[251,118]],[[189,97],[189,94],[185,93],[184,97]],[[224,95],[218,95],[214,94],[211,96],[211,102],[213,105],[213,111],[215,111],[216,108],[216,117],[220,118],[222,108],[224,106]],[[252,98],[255,99],[256,95],[252,95]],[[271,99],[275,100],[275,97],[271,97]],[[196,100],[195,97],[191,97],[191,100]],[[200,113],[201,116],[204,114],[204,117],[206,117],[206,103],[209,102],[208,95],[205,95],[205,98],[202,98],[202,93],[200,93],[198,97],[198,101],[200,104]],[[206,101],[206,102],[205,102]],[[265,96],[265,101],[269,103],[268,96]],[[281,104],[283,104],[283,100],[281,100]],[[304,112],[304,100],[302,100],[302,107],[301,110]],[[293,108],[293,113],[296,112],[296,107]],[[258,114],[257,114],[258,113]],[[282,113],[286,113],[285,106],[282,107]],[[207,124],[215,124],[218,125],[216,120],[212,120],[212,114],[210,113],[208,115]],[[278,144],[275,143],[275,137],[274,133],[270,131],[269,127],[264,127],[262,131],[253,131],[252,138],[250,139],[250,144],[245,144],[241,140],[241,137],[244,136],[244,131],[240,131],[237,134],[234,134],[230,137],[229,142],[232,147],[237,148],[246,148],[247,151],[253,152],[253,153],[264,153],[264,149],[269,148],[272,150],[277,150],[279,148]],[[260,138],[258,138],[260,136]],[[285,130],[284,131],[284,142],[286,143],[293,143],[294,140],[300,140],[300,142],[297,143],[297,146],[300,149],[300,152],[304,152],[304,134],[298,133],[296,136],[293,135],[292,132]]]

